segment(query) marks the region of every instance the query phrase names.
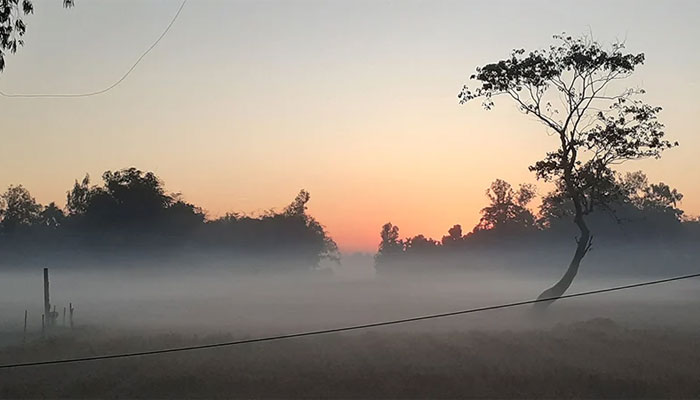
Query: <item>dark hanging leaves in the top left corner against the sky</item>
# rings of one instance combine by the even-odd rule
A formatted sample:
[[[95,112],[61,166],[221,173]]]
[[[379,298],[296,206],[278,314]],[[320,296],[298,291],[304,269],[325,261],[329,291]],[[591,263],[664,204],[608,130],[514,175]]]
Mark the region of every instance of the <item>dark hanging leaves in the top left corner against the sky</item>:
[[[63,0],[66,8],[73,6],[73,0]],[[0,72],[5,69],[6,52],[16,53],[24,45],[22,37],[27,32],[23,17],[34,12],[31,0],[0,1]]]

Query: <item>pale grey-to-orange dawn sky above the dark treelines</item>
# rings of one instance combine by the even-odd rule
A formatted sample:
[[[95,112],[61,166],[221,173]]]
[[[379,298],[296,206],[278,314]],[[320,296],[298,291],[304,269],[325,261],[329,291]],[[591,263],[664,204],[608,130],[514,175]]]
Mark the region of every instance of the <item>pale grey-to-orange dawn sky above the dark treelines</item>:
[[[25,46],[6,59],[8,93],[75,93],[121,77],[170,22],[176,0],[35,0]],[[80,99],[0,98],[0,188],[65,202],[75,179],[155,172],[211,217],[282,208],[305,188],[341,250],[470,230],[496,178],[556,146],[514,105],[458,103],[474,68],[566,31],[625,40],[646,64],[629,86],[664,108],[661,160],[627,163],[685,194],[700,214],[700,2],[190,0],[115,89]],[[505,100],[505,99],[503,99]]]

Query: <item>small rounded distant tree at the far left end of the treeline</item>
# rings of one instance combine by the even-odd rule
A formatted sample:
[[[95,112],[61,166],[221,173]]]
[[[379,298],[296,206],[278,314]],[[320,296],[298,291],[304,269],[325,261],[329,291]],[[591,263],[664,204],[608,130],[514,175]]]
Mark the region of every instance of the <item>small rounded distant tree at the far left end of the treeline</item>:
[[[40,221],[42,207],[22,185],[10,186],[0,195],[2,221],[0,226],[7,233],[28,227]]]

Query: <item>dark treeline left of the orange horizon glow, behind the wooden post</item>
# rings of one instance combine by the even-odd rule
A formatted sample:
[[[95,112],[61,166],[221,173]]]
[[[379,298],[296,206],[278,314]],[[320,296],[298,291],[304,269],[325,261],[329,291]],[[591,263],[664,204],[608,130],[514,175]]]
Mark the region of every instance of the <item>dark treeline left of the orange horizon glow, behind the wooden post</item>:
[[[23,186],[0,195],[0,265],[150,261],[241,269],[305,270],[338,248],[307,213],[302,190],[283,210],[208,219],[152,172],[106,171],[68,190],[65,208],[39,204]],[[284,262],[280,262],[280,261]]]

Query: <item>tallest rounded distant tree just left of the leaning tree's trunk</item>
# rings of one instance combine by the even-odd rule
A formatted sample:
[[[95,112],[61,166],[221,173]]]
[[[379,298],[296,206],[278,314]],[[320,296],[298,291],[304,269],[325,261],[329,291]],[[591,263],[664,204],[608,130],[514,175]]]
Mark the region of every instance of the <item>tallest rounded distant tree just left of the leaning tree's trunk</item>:
[[[535,216],[527,205],[537,195],[533,185],[520,185],[517,191],[506,181],[496,179],[486,189],[491,203],[481,209],[481,220],[474,228],[481,230],[523,230],[535,227]]]

